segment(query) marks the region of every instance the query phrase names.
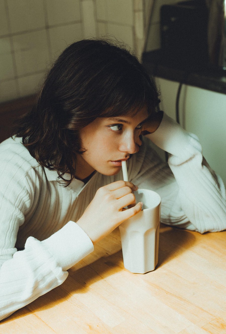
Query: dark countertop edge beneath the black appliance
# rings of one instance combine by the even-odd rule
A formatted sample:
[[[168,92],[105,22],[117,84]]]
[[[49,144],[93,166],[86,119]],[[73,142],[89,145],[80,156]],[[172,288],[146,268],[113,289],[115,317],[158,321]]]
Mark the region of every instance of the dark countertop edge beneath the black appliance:
[[[144,52],[142,63],[153,76],[226,94],[226,70],[204,65],[201,68],[194,64],[189,69],[189,66],[183,63],[169,62],[161,50]]]

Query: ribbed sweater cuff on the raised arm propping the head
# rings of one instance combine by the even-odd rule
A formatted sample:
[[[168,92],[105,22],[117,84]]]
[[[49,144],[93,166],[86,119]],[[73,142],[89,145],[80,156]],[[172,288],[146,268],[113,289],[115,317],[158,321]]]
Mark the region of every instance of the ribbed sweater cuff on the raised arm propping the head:
[[[158,129],[146,137],[164,151],[179,158],[177,162],[175,161],[176,164],[202,152],[198,137],[185,131],[165,113]]]

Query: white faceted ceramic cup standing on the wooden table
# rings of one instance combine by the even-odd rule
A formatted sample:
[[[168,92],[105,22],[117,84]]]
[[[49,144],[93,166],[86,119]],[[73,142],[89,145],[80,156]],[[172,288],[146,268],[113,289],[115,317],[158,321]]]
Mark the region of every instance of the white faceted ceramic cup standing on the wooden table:
[[[155,191],[138,189],[136,201],[142,211],[119,225],[124,267],[145,274],[158,263],[161,197]]]

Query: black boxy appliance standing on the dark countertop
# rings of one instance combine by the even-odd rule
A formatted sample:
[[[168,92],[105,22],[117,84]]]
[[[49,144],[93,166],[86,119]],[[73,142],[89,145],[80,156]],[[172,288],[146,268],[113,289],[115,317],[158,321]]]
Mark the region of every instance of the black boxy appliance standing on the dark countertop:
[[[163,5],[160,11],[161,53],[166,65],[186,70],[208,63],[208,8],[193,0]]]

